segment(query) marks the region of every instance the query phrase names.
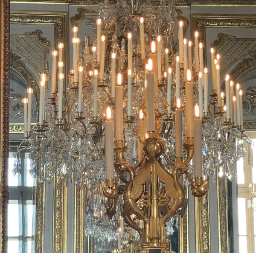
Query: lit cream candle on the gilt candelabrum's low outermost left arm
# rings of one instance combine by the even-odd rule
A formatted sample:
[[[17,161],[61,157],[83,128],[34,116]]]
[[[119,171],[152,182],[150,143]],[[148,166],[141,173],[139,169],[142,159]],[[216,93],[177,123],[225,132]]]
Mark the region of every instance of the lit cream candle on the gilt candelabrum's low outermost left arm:
[[[111,109],[108,106],[105,120],[105,164],[106,179],[114,178],[114,132]]]

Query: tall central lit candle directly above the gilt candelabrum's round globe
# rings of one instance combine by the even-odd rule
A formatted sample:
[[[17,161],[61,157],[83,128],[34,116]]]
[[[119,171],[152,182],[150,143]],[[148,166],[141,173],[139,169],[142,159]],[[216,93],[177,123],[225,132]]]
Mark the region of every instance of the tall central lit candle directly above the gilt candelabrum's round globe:
[[[147,86],[146,86],[146,111],[147,111],[147,132],[155,131],[154,118],[154,73],[152,71],[152,60],[148,60]]]

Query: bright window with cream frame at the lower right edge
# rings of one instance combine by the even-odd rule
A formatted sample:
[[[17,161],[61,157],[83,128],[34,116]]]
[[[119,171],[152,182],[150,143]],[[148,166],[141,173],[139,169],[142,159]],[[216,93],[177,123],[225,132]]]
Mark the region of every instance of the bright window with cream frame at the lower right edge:
[[[247,152],[244,158],[237,161],[239,253],[256,253],[256,198],[253,198],[254,208],[247,206],[251,195],[249,185],[256,184],[256,132],[247,132],[246,135],[254,145],[251,147],[250,159]]]

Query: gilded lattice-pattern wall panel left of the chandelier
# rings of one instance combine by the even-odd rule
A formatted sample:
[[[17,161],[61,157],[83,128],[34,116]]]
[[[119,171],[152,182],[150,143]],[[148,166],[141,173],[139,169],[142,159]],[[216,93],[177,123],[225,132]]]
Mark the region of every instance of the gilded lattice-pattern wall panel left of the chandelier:
[[[42,34],[41,30],[25,32],[23,35],[12,34],[10,47],[12,52],[26,60],[36,72],[45,72],[49,78],[47,55],[51,43]]]

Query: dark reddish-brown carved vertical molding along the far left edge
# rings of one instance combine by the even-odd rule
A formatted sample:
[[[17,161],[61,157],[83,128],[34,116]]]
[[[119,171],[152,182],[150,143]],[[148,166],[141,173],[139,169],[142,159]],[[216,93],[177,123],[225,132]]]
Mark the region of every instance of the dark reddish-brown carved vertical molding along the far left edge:
[[[0,252],[7,252],[10,3],[0,1]]]

